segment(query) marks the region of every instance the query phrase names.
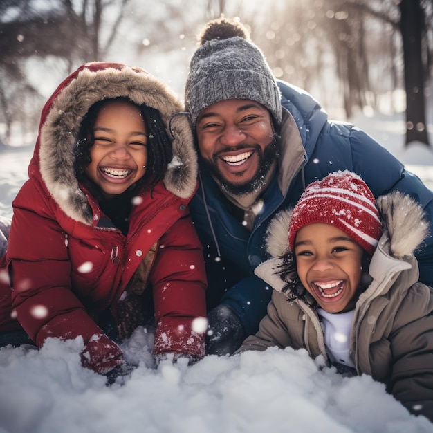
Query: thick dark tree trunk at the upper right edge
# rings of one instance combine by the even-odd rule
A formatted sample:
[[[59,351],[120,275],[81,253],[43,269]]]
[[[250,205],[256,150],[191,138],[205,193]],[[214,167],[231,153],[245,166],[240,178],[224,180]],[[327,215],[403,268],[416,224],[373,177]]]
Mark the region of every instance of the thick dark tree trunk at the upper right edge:
[[[400,31],[406,89],[406,142],[419,141],[430,146],[427,135],[424,98],[422,33],[424,28],[421,0],[400,1]]]

